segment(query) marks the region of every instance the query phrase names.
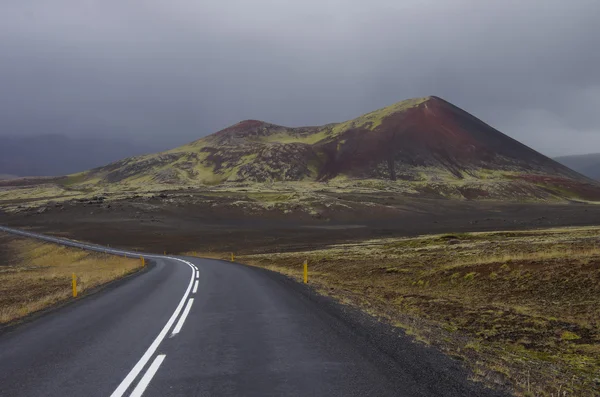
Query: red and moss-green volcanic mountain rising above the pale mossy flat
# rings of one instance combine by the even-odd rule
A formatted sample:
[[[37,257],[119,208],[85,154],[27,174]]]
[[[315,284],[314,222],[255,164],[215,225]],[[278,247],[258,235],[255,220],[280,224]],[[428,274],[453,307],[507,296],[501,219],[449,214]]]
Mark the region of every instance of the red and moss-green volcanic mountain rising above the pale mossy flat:
[[[188,145],[127,158],[78,182],[216,184],[548,176],[591,181],[438,97],[410,99],[343,123],[288,128],[246,120]]]

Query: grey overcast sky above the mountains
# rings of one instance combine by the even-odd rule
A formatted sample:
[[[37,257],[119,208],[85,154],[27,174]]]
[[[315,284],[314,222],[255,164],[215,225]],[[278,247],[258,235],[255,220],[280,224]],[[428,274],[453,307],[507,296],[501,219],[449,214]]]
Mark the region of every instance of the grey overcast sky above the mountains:
[[[176,146],[438,95],[600,152],[598,0],[1,0],[0,134]]]

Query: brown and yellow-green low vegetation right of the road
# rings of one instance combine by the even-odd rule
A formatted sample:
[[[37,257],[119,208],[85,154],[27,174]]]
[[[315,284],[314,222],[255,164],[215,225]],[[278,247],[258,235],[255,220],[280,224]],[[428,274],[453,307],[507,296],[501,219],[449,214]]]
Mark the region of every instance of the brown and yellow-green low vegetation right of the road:
[[[404,328],[464,360],[474,379],[516,395],[597,396],[599,234],[446,234],[236,261],[300,280],[306,259],[319,292]]]

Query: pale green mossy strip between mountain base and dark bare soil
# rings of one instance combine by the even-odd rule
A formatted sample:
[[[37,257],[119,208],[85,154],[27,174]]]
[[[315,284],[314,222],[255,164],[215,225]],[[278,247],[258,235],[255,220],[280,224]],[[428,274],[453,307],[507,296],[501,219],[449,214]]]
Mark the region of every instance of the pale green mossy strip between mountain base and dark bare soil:
[[[0,186],[0,213],[39,215],[60,213],[75,206],[117,208],[122,204],[148,201],[156,198],[170,206],[194,205],[205,209],[219,208],[236,211],[240,215],[288,215],[304,212],[312,217],[328,218],[342,212],[357,211],[403,212],[401,199],[440,199],[512,203],[567,203],[562,196],[550,193],[548,188],[525,186],[508,172],[488,174],[487,179],[465,177],[439,182],[440,175],[430,174],[429,168],[419,169],[413,181],[386,181],[381,179],[336,178],[322,182],[228,183],[222,185],[186,185],[166,189],[164,184],[145,181],[143,185],[114,184],[104,187]],[[447,175],[446,175],[447,176]],[[437,178],[438,182],[433,182]],[[536,190],[537,189],[537,190]],[[586,202],[572,198],[569,202]],[[143,209],[157,208],[156,205]],[[92,208],[90,208],[92,210]],[[90,211],[97,216],[100,211]]]

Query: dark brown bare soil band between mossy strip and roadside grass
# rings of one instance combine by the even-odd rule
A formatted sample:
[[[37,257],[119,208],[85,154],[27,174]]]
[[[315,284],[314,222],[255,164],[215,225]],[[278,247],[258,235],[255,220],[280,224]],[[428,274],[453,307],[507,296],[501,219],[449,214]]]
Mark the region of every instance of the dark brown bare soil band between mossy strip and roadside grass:
[[[175,192],[172,192],[175,194]],[[190,195],[194,192],[186,192]],[[317,214],[249,212],[228,205],[152,199],[70,202],[6,214],[0,224],[32,228],[110,246],[172,253],[188,250],[257,253],[313,249],[344,241],[428,233],[516,230],[600,224],[600,206],[519,204],[406,198],[393,194],[337,194],[348,210]],[[369,206],[361,203],[369,202]]]

